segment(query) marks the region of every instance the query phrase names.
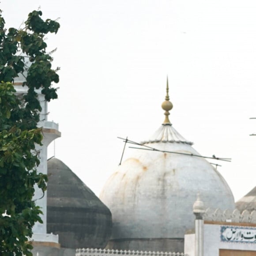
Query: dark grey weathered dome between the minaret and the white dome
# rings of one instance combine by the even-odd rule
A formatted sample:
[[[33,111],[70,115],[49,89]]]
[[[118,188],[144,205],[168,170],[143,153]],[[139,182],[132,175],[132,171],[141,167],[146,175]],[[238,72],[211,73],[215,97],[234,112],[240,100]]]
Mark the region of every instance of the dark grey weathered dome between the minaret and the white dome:
[[[61,247],[105,248],[112,230],[111,212],[59,159],[48,161],[47,233]]]

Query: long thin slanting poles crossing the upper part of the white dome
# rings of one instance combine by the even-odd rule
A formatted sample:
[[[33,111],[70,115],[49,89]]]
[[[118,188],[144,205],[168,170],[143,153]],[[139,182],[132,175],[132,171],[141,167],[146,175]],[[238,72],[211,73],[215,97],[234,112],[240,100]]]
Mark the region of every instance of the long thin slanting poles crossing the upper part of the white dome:
[[[120,138],[117,137],[118,139],[124,139],[124,138]],[[165,151],[165,150],[159,150],[157,148],[154,147],[150,147],[150,146],[146,146],[143,144],[140,144],[138,142],[132,141],[130,139],[124,139],[124,146],[126,145],[126,143],[131,143],[131,144],[135,144],[138,146],[142,146],[142,147],[129,147],[129,148],[135,148],[135,149],[143,149],[143,150],[148,150],[148,151],[158,151],[158,152],[163,152],[163,153],[173,153],[173,154],[184,154],[184,155],[190,155],[190,156],[196,156],[196,157],[201,157],[201,158],[207,158],[207,159],[215,159],[215,160],[220,160],[220,161],[225,161],[225,162],[231,162],[231,158],[218,158],[215,155],[212,155],[212,157],[207,157],[207,156],[202,156],[202,155],[198,155],[198,154],[188,154],[188,153],[181,153],[181,152],[174,152],[174,151]],[[143,148],[146,147],[146,148]]]

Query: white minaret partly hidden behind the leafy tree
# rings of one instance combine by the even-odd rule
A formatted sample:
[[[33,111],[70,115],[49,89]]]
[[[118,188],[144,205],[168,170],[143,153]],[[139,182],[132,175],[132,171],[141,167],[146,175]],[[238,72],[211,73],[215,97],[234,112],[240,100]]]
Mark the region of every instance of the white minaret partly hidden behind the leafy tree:
[[[24,82],[23,78],[15,79],[15,90],[16,94],[26,94],[27,87],[23,87],[22,84]],[[38,100],[40,102],[42,111],[40,113],[40,122],[38,123],[38,127],[42,127],[43,132],[43,146],[38,146],[38,150],[40,151],[40,165],[38,166],[37,171],[40,173],[47,174],[47,147],[49,144],[56,138],[60,137],[59,125],[54,123],[53,121],[47,120],[48,109],[47,109],[47,101],[45,101],[44,95],[41,94],[41,90],[36,90],[38,93]],[[44,245],[52,244],[54,247],[60,247],[59,238],[57,235],[47,234],[47,190],[45,195],[43,196],[43,192],[37,186],[35,188],[34,200],[36,200],[36,204],[41,207],[41,211],[43,215],[41,215],[41,219],[43,224],[37,222],[33,227],[33,236],[32,241],[36,243],[40,243]],[[45,245],[46,245],[45,244]]]

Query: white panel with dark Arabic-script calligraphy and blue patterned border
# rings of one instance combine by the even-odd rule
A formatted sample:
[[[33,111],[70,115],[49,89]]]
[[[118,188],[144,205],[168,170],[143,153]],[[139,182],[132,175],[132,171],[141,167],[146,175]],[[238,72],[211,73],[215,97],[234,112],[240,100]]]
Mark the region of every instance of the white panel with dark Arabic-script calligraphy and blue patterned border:
[[[221,226],[221,241],[256,243],[256,227]]]

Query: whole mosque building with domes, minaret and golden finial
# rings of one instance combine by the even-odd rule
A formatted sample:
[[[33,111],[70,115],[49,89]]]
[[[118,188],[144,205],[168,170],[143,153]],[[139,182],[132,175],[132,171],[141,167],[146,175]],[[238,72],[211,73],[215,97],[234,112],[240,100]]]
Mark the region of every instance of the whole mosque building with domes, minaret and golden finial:
[[[47,102],[41,104],[45,117]],[[100,198],[59,159],[46,164],[47,146],[60,132],[44,120],[50,139],[40,168],[49,182],[43,203],[38,200],[44,226],[35,227],[33,255],[256,256],[256,188],[235,203],[221,174],[173,128],[172,108],[167,80],[163,124],[149,139],[133,142],[137,148]]]

